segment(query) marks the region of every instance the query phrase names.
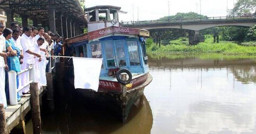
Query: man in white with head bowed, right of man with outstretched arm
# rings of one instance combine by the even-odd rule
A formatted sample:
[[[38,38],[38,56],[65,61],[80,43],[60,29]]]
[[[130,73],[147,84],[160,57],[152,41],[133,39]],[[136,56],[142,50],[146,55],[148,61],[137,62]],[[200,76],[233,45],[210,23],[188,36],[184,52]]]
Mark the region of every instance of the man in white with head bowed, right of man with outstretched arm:
[[[44,38],[39,37],[35,44],[35,53],[40,54],[40,46],[42,46],[44,43]],[[38,82],[38,90],[40,89],[40,63],[42,62],[42,57],[36,58],[35,60],[35,71],[36,71],[36,82]],[[45,70],[44,70],[45,72]],[[44,73],[45,74],[45,73]]]

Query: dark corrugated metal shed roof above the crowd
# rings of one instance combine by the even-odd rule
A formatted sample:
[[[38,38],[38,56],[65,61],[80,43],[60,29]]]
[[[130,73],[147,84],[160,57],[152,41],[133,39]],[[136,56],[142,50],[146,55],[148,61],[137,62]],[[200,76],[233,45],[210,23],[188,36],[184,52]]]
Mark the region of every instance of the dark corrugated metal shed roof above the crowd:
[[[48,20],[48,9],[53,8],[56,13],[61,12],[69,18],[84,21],[84,10],[77,0],[3,0],[0,9],[12,9],[19,15],[27,15],[28,18],[37,18],[40,21]]]

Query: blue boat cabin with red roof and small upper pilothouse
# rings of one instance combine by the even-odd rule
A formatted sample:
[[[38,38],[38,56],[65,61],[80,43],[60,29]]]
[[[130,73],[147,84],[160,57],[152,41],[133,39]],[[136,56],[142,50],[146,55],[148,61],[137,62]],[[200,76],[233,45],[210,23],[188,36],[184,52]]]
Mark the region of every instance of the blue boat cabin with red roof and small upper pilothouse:
[[[145,37],[147,30],[121,27],[118,23],[120,7],[96,6],[87,8],[88,33],[67,40],[72,56],[103,58],[100,76],[112,76],[122,68],[133,74],[148,72]],[[123,12],[123,11],[122,11]],[[99,13],[106,14],[101,21]],[[114,19],[109,21],[110,13]]]

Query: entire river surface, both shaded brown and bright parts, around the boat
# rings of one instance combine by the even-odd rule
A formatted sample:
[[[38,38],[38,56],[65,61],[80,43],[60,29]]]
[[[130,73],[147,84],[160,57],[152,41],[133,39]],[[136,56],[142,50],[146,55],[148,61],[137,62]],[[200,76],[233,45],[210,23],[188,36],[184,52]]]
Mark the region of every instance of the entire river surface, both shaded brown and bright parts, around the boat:
[[[255,59],[157,56],[148,63],[153,81],[126,124],[79,100],[43,113],[44,134],[256,133]],[[32,134],[31,121],[26,127]]]

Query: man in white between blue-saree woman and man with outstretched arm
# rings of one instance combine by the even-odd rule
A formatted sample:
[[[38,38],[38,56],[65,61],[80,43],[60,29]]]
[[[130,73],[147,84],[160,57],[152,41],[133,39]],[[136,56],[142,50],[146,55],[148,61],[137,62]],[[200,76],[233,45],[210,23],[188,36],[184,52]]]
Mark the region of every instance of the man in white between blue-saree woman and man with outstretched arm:
[[[15,45],[20,49],[20,68],[21,68],[21,64],[23,63],[23,57],[24,57],[24,55],[23,55],[23,48],[22,48],[22,46],[21,46],[21,44],[20,44],[20,30],[18,29],[18,28],[14,28],[14,29],[12,29],[12,40],[13,40],[13,42],[15,43]],[[21,85],[21,75],[19,75],[18,76],[19,77],[19,88],[22,86]],[[19,92],[19,95],[20,96],[22,96],[22,90],[20,90]]]

